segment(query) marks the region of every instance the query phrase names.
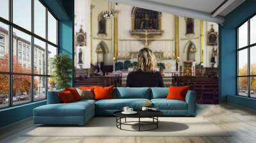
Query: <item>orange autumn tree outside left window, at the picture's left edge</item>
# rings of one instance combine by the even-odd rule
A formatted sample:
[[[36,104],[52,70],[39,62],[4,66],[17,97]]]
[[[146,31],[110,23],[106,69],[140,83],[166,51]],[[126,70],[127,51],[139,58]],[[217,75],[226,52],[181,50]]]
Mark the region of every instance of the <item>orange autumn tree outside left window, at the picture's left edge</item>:
[[[8,54],[4,56],[4,59],[0,60],[1,72],[8,72],[9,68]],[[31,68],[22,67],[16,56],[13,56],[13,72],[15,73],[30,73]],[[37,73],[37,70],[35,70]],[[0,94],[8,94],[8,74],[0,74]],[[38,86],[38,82],[34,80],[34,88]],[[29,92],[31,87],[30,75],[13,75],[13,95],[16,93]]]

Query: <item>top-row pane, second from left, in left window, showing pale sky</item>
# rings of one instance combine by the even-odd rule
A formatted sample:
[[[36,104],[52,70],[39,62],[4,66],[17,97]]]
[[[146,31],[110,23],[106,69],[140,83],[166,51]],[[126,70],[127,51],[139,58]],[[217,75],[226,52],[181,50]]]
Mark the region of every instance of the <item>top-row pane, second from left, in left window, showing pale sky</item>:
[[[13,0],[13,23],[31,31],[31,0]]]

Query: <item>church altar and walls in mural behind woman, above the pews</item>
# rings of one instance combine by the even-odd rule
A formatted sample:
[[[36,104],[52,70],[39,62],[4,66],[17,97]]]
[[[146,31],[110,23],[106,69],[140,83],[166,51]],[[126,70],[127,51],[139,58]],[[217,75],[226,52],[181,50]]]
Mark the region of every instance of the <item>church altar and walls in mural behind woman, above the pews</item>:
[[[107,0],[75,6],[76,84],[118,75],[118,86],[125,86],[143,47],[154,51],[164,86],[177,84],[176,77],[218,77],[216,23]]]

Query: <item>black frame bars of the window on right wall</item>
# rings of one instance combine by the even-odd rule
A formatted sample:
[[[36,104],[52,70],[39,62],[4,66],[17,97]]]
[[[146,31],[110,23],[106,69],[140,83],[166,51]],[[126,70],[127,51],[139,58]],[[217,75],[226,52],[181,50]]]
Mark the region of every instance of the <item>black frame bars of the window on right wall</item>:
[[[250,51],[253,47],[256,46],[256,42],[255,43],[250,43],[250,20],[253,18],[253,17],[256,17],[256,13],[251,15],[248,19],[244,20],[244,22],[242,22],[239,26],[236,27],[236,95],[237,96],[243,96],[241,94],[239,94],[239,78],[241,77],[247,77],[248,79],[248,83],[247,83],[247,96],[243,96],[243,97],[246,97],[246,98],[256,98],[256,97],[252,97],[251,96],[251,77],[256,77],[256,75],[252,75],[251,74],[251,63],[250,63]],[[244,47],[241,47],[239,48],[239,27],[243,26],[243,24],[245,23],[248,23],[248,40],[247,40],[247,45],[244,46]],[[256,33],[255,33],[256,34]],[[239,51],[241,50],[244,50],[244,49],[247,49],[247,56],[248,56],[248,59],[247,59],[247,63],[248,63],[248,67],[247,67],[247,75],[239,75]]]

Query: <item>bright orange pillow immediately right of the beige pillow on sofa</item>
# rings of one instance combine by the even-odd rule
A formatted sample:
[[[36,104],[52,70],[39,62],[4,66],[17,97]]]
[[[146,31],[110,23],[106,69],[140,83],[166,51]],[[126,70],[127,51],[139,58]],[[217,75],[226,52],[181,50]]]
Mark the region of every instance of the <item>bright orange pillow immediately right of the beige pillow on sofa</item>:
[[[102,87],[102,86],[95,86],[94,87],[94,94],[95,100],[106,100],[106,99],[113,99],[113,87]]]

